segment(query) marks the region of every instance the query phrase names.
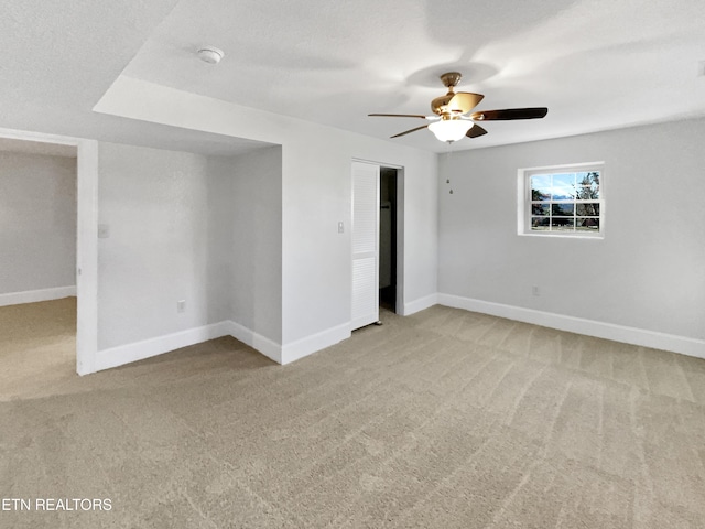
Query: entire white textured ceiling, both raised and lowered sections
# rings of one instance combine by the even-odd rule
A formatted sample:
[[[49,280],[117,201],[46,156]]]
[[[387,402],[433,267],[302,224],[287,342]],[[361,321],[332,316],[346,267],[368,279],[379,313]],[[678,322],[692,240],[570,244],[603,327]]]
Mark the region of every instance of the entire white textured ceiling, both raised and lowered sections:
[[[12,80],[0,84],[0,127],[204,152],[258,147],[91,112],[121,73],[378,138],[423,122],[368,112],[430,114],[445,91],[437,76],[453,69],[458,89],[485,95],[478,109],[549,107],[543,120],[484,123],[487,136],[453,149],[705,115],[701,0],[7,4],[0,73]],[[199,62],[203,45],[226,57]],[[392,141],[448,149],[427,131]]]

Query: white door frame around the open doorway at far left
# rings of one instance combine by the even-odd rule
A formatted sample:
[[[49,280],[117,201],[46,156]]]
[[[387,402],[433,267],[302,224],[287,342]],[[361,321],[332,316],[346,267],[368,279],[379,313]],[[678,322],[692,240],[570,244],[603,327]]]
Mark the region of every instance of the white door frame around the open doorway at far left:
[[[98,142],[3,128],[0,128],[0,138],[76,147],[76,373],[95,373],[98,352]]]

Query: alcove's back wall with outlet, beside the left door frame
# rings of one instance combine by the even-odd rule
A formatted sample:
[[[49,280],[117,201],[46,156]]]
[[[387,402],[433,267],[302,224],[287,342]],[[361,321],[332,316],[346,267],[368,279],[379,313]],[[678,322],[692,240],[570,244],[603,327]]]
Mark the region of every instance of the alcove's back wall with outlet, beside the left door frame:
[[[227,196],[210,185],[205,156],[99,144],[98,349],[227,317],[214,273],[229,259],[218,240]],[[176,302],[186,301],[184,313]]]

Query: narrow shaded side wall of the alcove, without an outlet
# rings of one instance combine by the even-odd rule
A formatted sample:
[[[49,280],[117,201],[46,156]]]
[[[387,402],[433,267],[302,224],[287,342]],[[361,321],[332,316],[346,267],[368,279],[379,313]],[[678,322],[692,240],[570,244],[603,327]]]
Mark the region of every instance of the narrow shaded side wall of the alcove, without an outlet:
[[[258,149],[209,159],[208,170],[229,188],[223,223],[228,227],[228,320],[281,345],[282,150]]]

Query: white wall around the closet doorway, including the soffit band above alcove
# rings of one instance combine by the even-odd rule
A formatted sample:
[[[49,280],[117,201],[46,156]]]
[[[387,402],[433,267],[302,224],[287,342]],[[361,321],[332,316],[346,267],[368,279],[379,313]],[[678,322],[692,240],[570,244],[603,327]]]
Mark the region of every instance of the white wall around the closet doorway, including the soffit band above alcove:
[[[402,166],[404,306],[435,302],[434,153],[121,76],[96,111],[282,145],[283,361],[349,335],[354,158]],[[338,234],[338,222],[346,230]]]

